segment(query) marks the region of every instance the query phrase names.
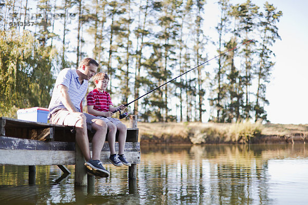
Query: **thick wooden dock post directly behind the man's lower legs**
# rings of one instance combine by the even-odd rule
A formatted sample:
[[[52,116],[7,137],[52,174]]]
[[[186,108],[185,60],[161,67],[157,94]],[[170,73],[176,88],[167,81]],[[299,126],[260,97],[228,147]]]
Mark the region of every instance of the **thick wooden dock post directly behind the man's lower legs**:
[[[87,186],[87,171],[85,167],[85,158],[79,148],[77,141],[75,141],[75,153],[76,153],[76,162],[75,162],[75,186]]]

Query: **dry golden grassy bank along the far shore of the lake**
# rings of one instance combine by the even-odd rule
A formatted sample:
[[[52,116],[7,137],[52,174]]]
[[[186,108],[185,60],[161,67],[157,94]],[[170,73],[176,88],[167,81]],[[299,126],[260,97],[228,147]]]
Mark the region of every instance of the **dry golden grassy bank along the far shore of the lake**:
[[[125,121],[128,126],[128,121]],[[214,122],[138,122],[143,144],[245,144],[258,136],[308,135],[308,125],[280,125],[239,121],[231,124]]]

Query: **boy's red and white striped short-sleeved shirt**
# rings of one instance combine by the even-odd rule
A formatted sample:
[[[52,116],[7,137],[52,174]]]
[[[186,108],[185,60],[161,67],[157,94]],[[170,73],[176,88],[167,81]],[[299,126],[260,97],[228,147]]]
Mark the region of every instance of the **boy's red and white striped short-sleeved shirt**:
[[[87,105],[94,106],[94,110],[101,112],[107,112],[109,111],[109,105],[113,106],[109,93],[106,91],[101,92],[97,88],[87,95]]]

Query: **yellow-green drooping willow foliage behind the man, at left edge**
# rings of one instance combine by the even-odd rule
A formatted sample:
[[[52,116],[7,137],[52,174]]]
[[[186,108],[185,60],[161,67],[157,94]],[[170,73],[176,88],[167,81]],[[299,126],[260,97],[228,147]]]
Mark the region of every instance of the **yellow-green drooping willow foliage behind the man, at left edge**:
[[[28,31],[0,32],[0,115],[13,116],[15,108],[48,107],[55,56],[55,49],[40,46]]]

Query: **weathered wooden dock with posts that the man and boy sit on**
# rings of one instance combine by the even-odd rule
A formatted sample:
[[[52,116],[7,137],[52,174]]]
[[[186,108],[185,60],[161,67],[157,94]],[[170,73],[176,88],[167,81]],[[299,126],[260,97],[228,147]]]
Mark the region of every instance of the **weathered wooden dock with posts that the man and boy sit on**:
[[[137,115],[130,115],[129,120],[124,153],[131,163],[128,178],[136,179],[137,164],[140,163]],[[88,132],[88,136],[91,151],[93,133]],[[118,133],[116,152],[119,151],[117,140]],[[101,152],[104,165],[111,163],[109,155],[106,141]],[[29,166],[29,183],[35,183],[36,165],[57,165],[64,173],[69,173],[65,165],[75,165],[75,186],[93,184],[94,177],[87,177],[84,163],[85,159],[75,143],[73,127],[0,117],[0,165]],[[34,173],[34,179],[30,173]]]

